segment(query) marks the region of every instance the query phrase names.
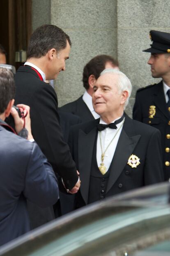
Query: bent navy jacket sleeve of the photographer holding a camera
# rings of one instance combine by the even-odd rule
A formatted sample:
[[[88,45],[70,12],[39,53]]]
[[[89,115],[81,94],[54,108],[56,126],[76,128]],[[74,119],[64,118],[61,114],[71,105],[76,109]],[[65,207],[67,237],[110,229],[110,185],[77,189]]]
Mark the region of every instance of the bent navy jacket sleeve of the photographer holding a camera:
[[[25,197],[39,207],[52,206],[59,198],[57,179],[36,143],[32,143],[26,174]]]

